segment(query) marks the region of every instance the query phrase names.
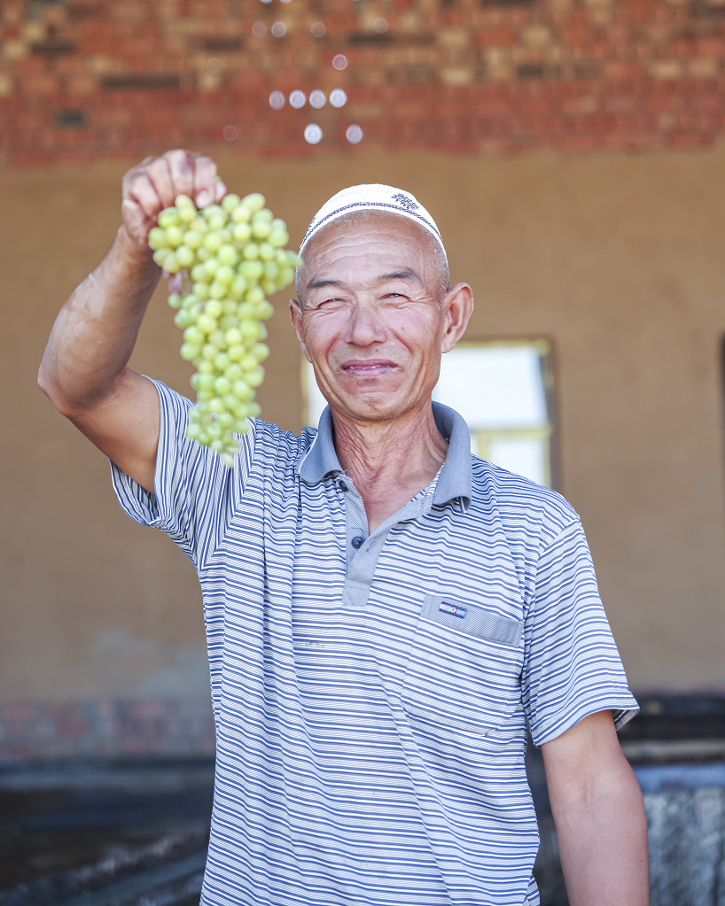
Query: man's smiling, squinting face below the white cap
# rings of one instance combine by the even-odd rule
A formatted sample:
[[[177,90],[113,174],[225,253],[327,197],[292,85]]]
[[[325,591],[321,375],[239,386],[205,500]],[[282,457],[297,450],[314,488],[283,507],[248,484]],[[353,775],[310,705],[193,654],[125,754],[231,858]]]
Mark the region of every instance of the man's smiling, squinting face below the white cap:
[[[427,404],[459,335],[444,279],[426,231],[405,217],[342,218],[309,241],[291,315],[333,414],[388,421]]]

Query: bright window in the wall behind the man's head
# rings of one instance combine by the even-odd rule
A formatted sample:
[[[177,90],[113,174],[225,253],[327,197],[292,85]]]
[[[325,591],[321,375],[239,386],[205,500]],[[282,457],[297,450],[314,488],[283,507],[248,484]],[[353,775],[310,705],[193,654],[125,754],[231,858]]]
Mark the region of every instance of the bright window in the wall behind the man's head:
[[[316,426],[326,404],[306,361],[303,388],[304,423]],[[546,340],[461,342],[443,356],[433,400],[466,419],[477,456],[554,487],[552,389]]]

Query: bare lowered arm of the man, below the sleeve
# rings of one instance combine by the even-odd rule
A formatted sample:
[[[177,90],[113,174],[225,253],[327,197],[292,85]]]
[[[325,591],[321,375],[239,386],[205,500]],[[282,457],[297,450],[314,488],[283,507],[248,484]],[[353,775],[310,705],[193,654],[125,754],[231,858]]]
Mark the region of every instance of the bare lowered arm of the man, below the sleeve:
[[[610,711],[541,747],[571,906],[647,906],[642,793]]]

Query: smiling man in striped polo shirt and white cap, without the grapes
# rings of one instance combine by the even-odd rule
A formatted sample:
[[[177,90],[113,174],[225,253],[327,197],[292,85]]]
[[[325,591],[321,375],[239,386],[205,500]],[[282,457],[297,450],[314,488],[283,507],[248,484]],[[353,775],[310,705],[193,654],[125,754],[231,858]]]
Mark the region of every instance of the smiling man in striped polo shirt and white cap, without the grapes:
[[[471,457],[431,404],[473,300],[400,189],[343,190],[304,238],[295,332],[329,403],[302,437],[255,420],[232,468],[189,400],[127,368],[179,193],[172,151],[124,178],[122,225],[41,368],[204,596],[217,776],[207,906],[531,906],[541,746],[572,906],[645,906],[643,802],[615,735],[636,703],[585,537],[554,492]]]

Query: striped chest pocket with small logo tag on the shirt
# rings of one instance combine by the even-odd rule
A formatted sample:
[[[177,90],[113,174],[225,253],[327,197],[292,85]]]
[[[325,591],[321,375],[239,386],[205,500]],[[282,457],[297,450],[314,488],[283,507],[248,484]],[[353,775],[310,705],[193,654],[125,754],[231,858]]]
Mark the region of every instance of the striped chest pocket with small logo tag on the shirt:
[[[519,707],[523,623],[458,599],[426,595],[401,699],[415,723],[486,736]]]

